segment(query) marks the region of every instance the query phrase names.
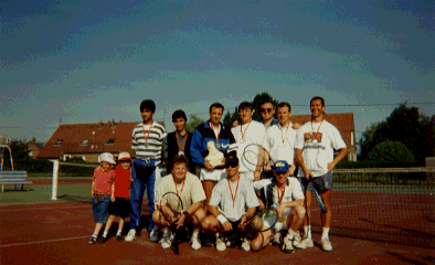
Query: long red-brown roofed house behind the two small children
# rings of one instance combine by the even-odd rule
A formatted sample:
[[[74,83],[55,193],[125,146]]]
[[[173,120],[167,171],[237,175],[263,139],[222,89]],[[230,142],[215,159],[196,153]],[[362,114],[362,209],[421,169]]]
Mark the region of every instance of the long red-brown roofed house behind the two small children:
[[[131,131],[137,124],[112,120],[107,124],[60,125],[38,158],[67,160],[78,157],[86,162],[97,162],[102,152],[130,152]]]

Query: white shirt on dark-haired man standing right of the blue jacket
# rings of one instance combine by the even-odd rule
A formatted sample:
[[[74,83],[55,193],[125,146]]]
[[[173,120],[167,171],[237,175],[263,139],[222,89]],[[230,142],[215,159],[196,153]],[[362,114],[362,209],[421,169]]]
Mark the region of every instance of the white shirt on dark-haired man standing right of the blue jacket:
[[[242,131],[241,131],[242,128]],[[236,150],[238,158],[238,172],[247,173],[251,172],[252,180],[254,180],[253,171],[255,170],[255,166],[250,165],[243,157],[243,151],[245,147],[250,144],[262,145],[265,136],[266,136],[266,127],[262,123],[256,120],[252,120],[251,123],[238,125],[236,127],[231,128],[231,132],[234,136],[235,144],[232,144],[229,148],[229,151]],[[243,137],[242,137],[243,134]],[[250,178],[251,179],[251,178]]]

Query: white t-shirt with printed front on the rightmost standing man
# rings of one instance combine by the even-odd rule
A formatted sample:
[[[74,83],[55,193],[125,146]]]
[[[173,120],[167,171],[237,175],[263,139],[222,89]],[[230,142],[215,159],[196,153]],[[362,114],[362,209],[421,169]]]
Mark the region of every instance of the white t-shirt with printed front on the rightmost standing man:
[[[340,131],[323,119],[322,123],[306,123],[298,130],[295,148],[303,150],[305,167],[314,177],[328,172],[328,163],[333,160],[333,149],[347,148]],[[304,171],[298,171],[304,177]]]

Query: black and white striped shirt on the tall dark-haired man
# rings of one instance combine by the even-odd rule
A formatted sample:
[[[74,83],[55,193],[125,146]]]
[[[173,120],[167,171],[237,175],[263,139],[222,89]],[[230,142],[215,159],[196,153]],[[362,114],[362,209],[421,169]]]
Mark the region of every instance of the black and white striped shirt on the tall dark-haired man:
[[[149,130],[150,128],[151,130]],[[148,136],[147,141],[144,135]],[[165,127],[156,121],[152,125],[144,125],[142,123],[136,125],[131,132],[131,149],[136,150],[136,158],[142,160],[161,159],[166,136]]]

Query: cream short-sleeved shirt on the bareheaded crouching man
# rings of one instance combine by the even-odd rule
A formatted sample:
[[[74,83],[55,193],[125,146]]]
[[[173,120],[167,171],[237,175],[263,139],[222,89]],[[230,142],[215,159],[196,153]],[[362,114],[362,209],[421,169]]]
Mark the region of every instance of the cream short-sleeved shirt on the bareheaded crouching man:
[[[187,211],[193,203],[205,200],[205,192],[201,181],[190,172],[185,173],[184,187],[183,183],[179,183],[177,188],[172,174],[165,176],[156,190],[156,205],[160,205],[161,197],[169,191],[179,194],[183,202],[183,211]]]

